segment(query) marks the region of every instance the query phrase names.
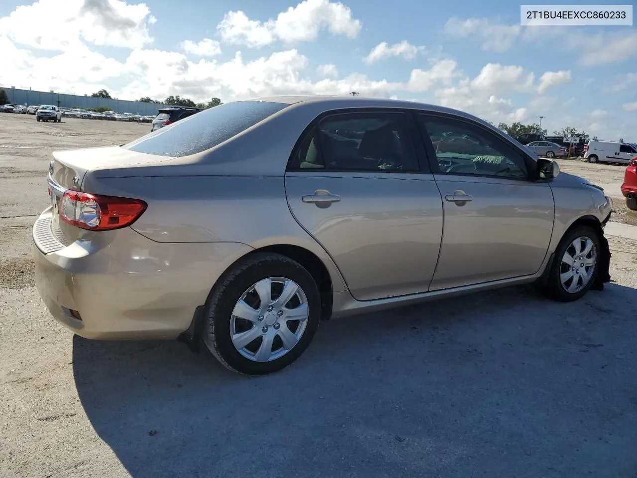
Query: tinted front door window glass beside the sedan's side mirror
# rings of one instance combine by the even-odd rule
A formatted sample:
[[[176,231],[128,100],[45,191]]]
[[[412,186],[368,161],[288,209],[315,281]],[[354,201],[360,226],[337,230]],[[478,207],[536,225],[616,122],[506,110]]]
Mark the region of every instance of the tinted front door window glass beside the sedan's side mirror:
[[[521,154],[494,134],[461,120],[420,115],[441,173],[526,179]]]

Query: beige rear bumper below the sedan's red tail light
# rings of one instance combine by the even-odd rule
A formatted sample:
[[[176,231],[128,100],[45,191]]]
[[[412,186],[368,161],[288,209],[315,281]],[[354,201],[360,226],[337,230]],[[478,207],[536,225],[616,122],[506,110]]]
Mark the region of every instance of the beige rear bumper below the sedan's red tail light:
[[[46,254],[40,247],[50,215],[48,209],[33,230],[36,287],[55,320],[85,338],[177,338],[236,254],[251,250],[240,243],[157,243],[124,228],[87,231]]]

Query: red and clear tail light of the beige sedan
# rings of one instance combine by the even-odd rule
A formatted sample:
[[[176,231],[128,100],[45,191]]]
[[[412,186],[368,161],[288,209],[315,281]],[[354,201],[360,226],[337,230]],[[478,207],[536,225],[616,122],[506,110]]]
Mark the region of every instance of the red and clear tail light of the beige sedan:
[[[140,199],[98,196],[67,189],[60,201],[60,219],[91,231],[106,231],[129,226],[146,210]]]

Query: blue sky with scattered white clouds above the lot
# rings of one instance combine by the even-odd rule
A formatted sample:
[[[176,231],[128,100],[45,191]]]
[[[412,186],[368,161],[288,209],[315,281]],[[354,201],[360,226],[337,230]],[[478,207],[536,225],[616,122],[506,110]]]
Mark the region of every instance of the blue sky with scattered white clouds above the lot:
[[[0,2],[0,85],[120,99],[413,99],[637,141],[637,28],[520,27],[510,0]]]

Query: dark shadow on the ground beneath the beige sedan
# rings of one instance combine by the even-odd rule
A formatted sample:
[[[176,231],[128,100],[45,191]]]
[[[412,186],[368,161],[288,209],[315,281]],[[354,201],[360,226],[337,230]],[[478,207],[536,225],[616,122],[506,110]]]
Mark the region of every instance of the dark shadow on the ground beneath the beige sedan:
[[[297,363],[258,378],[178,342],[75,337],[75,384],[134,478],[621,476],[635,295],[512,287],[322,322]]]

